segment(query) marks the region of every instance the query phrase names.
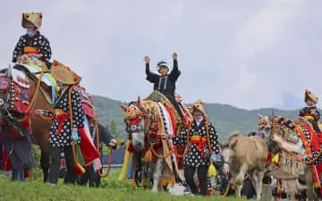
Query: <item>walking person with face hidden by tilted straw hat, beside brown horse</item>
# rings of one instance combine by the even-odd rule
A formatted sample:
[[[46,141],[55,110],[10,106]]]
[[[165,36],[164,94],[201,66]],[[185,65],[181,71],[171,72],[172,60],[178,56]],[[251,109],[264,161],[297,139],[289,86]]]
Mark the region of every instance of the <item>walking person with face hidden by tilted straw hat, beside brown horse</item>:
[[[51,74],[61,88],[55,98],[54,120],[50,128],[50,156],[49,183],[56,184],[59,177],[60,155],[64,152],[67,172],[64,183],[74,184],[77,175],[85,170],[78,163],[76,149],[79,147],[83,161],[87,164],[99,158],[97,149],[84,131],[84,110],[81,105],[80,94],[73,86],[81,78],[63,63],[54,61]],[[77,144],[77,145],[75,145]],[[73,152],[75,150],[75,152]],[[77,149],[78,150],[78,149]]]

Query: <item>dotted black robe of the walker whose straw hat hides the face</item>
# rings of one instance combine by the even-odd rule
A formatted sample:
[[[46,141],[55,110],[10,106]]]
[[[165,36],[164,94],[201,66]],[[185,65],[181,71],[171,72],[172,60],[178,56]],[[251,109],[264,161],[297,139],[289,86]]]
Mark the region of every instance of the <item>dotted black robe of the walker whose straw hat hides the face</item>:
[[[69,88],[66,88],[59,92],[55,102],[55,109],[62,109],[65,113],[70,112],[68,90]],[[50,128],[50,145],[52,147],[71,146],[72,130],[70,118],[65,119],[60,134],[58,133],[59,124],[59,121],[55,117]],[[73,128],[84,128],[84,110],[81,105],[80,94],[75,89],[72,89],[72,126]]]

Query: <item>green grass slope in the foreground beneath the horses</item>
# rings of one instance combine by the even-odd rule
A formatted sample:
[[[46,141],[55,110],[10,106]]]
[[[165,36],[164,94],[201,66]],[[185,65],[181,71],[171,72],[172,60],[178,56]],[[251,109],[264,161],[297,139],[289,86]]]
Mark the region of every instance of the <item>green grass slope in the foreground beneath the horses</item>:
[[[89,188],[64,185],[62,180],[57,186],[51,186],[42,183],[41,178],[36,180],[26,180],[25,182],[11,181],[4,174],[0,175],[0,200],[5,201],[132,201],[132,200],[151,200],[151,201],[166,201],[166,200],[239,200],[237,197],[191,197],[191,196],[171,196],[168,193],[153,194],[149,190],[143,188],[131,189],[129,181],[118,180],[118,173],[109,175],[102,179],[101,188]],[[242,199],[243,200],[243,199]]]

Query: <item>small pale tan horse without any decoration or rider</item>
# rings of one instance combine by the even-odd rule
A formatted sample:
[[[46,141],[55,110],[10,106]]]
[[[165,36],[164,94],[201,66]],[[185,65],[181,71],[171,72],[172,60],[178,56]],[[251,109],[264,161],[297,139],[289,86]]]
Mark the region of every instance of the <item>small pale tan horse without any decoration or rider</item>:
[[[245,137],[238,131],[230,134],[222,144],[223,172],[231,172],[237,186],[237,196],[241,197],[242,183],[246,172],[254,184],[257,199],[260,200],[268,147],[258,136]]]

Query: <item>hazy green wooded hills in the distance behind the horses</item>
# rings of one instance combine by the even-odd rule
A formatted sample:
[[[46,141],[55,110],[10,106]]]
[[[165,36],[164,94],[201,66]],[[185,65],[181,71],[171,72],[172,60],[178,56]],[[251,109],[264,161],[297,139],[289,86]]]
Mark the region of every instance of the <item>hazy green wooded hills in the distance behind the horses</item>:
[[[97,108],[98,118],[104,124],[114,121],[117,129],[123,138],[126,138],[124,130],[123,115],[124,112],[120,107],[122,102],[113,100],[104,96],[93,96],[94,105]],[[127,105],[127,103],[122,103]],[[190,106],[190,104],[186,104]],[[275,108],[264,108],[258,110],[244,110],[232,105],[208,104],[204,103],[208,113],[209,120],[214,123],[221,140],[232,131],[239,130],[243,134],[257,130],[258,113],[270,114],[275,113],[284,117],[295,119],[299,110],[279,110]]]

